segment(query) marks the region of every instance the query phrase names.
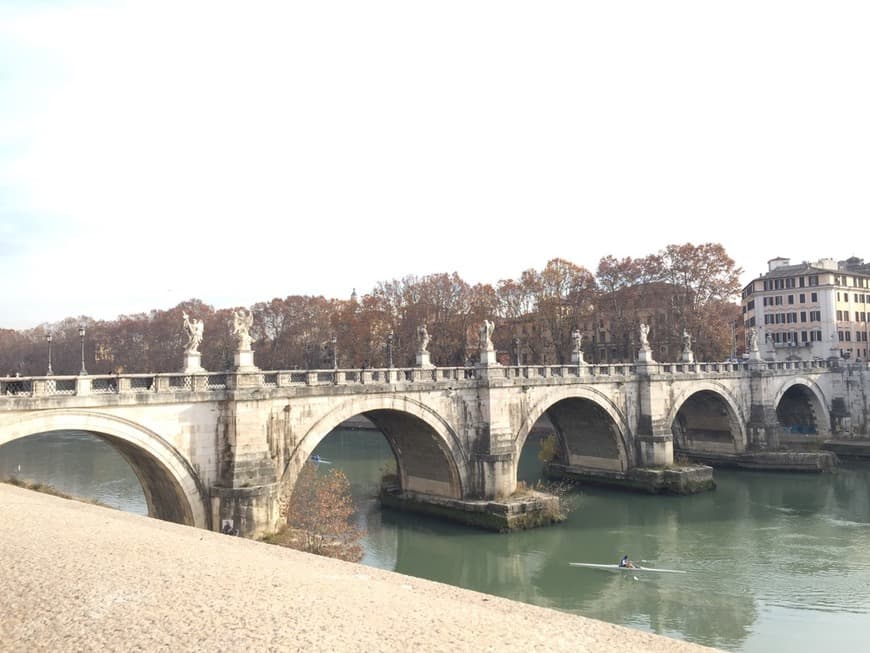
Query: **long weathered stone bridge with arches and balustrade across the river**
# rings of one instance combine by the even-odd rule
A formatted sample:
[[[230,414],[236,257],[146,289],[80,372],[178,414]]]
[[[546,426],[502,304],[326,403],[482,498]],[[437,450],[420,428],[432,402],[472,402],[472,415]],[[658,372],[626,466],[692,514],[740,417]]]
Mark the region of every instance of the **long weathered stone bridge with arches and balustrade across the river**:
[[[416,500],[494,501],[546,417],[568,472],[628,478],[674,453],[728,462],[866,434],[866,365],[836,361],[260,371],[0,378],[0,445],[84,430],[111,443],[152,516],[273,530],[318,443],[369,419]]]

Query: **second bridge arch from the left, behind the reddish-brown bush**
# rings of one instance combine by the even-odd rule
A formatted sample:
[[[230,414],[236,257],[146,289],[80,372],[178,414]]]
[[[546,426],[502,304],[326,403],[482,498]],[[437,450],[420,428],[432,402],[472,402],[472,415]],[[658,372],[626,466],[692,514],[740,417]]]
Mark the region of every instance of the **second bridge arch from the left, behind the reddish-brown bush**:
[[[396,457],[403,490],[453,499],[469,487],[468,458],[454,430],[434,410],[410,397],[374,395],[343,402],[317,420],[298,440],[281,477],[292,491],[302,466],[329,433],[363,415],[383,433]]]

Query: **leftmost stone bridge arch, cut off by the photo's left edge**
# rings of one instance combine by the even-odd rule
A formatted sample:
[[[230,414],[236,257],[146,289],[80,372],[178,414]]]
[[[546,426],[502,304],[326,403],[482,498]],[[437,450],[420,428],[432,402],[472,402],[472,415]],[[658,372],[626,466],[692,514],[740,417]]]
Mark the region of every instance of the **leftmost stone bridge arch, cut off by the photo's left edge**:
[[[87,431],[112,445],[139,479],[151,517],[210,528],[207,495],[196,472],[154,431],[94,411],[49,410],[0,427],[0,446],[50,431]]]

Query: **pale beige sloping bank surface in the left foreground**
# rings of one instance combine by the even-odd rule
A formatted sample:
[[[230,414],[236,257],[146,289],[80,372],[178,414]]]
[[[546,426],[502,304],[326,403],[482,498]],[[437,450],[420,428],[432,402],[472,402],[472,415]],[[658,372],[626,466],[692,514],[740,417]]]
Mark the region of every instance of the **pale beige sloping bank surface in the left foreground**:
[[[0,484],[4,651],[713,649]]]

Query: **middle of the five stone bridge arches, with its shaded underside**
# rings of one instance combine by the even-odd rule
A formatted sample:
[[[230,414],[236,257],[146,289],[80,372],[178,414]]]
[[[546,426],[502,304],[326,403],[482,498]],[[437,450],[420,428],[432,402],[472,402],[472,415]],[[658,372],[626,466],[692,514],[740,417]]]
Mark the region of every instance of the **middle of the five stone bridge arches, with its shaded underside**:
[[[517,461],[535,423],[548,414],[572,466],[625,472],[634,466],[628,420],[602,392],[588,386],[547,388],[529,407],[514,438]],[[580,429],[585,430],[581,433]]]

